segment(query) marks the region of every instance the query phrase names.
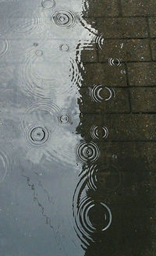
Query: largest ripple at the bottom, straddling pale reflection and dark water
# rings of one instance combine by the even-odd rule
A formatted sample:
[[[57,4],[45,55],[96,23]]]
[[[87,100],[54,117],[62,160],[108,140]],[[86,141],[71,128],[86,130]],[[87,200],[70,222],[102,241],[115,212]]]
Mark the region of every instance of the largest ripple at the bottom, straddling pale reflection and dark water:
[[[73,215],[76,234],[86,246],[89,240],[94,241],[91,237],[93,233],[107,230],[112,223],[112,212],[108,206],[103,202],[94,202],[87,196],[77,202]]]

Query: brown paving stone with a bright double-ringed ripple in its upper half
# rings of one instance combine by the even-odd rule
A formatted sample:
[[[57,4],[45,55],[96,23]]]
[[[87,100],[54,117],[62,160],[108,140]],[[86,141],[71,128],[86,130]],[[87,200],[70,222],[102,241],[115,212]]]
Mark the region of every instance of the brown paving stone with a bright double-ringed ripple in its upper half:
[[[99,95],[100,94],[100,95]],[[112,94],[112,98],[111,97]],[[129,94],[126,88],[80,88],[78,100],[83,113],[129,112]],[[115,97],[114,97],[115,96]],[[110,98],[108,100],[108,98]],[[84,101],[83,101],[84,99]]]

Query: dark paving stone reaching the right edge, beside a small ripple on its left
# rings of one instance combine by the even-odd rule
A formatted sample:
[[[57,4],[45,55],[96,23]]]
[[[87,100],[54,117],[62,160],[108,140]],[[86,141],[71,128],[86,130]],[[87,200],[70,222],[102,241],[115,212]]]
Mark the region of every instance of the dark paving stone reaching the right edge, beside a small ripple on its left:
[[[106,115],[107,140],[156,140],[154,115]]]

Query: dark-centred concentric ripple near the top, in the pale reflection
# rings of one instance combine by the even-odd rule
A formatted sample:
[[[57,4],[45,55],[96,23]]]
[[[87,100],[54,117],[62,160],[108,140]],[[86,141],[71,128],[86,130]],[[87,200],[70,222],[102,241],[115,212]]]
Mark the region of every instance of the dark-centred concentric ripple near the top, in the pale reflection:
[[[70,10],[58,10],[51,16],[51,20],[58,27],[69,29],[76,24],[76,14]]]

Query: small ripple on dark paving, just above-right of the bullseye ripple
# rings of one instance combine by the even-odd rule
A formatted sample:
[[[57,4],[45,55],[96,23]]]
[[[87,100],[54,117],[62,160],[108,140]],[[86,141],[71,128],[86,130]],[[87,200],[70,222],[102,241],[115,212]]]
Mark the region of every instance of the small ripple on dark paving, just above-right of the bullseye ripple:
[[[106,126],[92,126],[90,135],[94,140],[99,140],[100,137],[106,139],[108,137],[108,128]]]

